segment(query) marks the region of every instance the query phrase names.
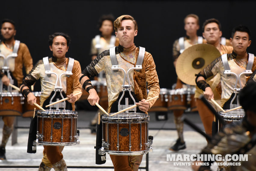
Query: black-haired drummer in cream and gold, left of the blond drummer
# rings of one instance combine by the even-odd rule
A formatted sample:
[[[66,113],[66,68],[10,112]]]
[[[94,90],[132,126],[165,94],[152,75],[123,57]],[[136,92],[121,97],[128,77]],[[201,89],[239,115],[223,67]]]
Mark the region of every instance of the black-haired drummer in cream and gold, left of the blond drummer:
[[[29,90],[29,86],[35,83],[39,78],[41,79],[42,95],[40,99],[40,105],[45,108],[49,104],[51,97],[56,90],[55,83],[56,75],[58,77],[62,75],[61,82],[57,86],[62,87],[62,96],[66,96],[69,99],[66,102],[67,110],[75,110],[75,102],[80,98],[74,96],[76,93],[82,92],[82,86],[79,83],[79,74],[81,73],[80,63],[72,58],[66,58],[66,53],[69,49],[70,38],[69,35],[61,32],[56,32],[49,36],[49,47],[53,53],[53,56],[45,57],[43,60],[39,60],[26,78],[23,80],[20,91],[23,96],[28,98],[28,103],[33,105],[36,102],[36,97]],[[67,73],[72,72],[72,75]],[[50,73],[50,74],[49,74]],[[55,73],[55,74],[53,74]],[[61,99],[60,92],[53,99]],[[47,108],[45,108],[47,109]],[[67,170],[65,160],[61,151],[64,146],[45,146],[43,151],[42,163],[39,166],[39,171],[51,170]]]

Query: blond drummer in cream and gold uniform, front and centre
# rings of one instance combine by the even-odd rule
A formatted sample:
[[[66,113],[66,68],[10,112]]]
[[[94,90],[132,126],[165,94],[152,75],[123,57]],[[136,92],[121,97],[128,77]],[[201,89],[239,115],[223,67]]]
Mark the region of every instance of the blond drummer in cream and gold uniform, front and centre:
[[[95,76],[101,71],[106,73],[106,83],[108,90],[109,108],[108,113],[117,112],[117,99],[119,93],[122,92],[122,85],[124,80],[124,72],[117,70],[112,70],[113,63],[110,59],[111,56],[114,57],[116,65],[123,68],[125,72],[128,69],[133,68],[138,62],[139,51],[144,49],[143,47],[136,47],[134,45],[134,36],[137,35],[137,22],[130,15],[122,15],[114,21],[114,29],[116,37],[119,38],[119,46],[112,49],[113,51],[106,50],[100,55],[98,55],[95,60],[89,64],[82,74],[80,74],[80,83],[83,88],[90,94],[88,101],[91,105],[95,105],[95,102],[99,102],[100,98],[97,95],[96,90],[91,85],[89,76]],[[153,57],[150,53],[145,52],[144,58],[142,59],[142,69],[139,71],[129,72],[129,78],[131,83],[132,92],[134,92],[134,99],[137,99],[136,105],[139,105],[138,109],[141,112],[147,113],[150,107],[154,104],[156,100],[150,102],[145,102],[146,99],[159,95],[159,80],[156,73],[156,66]],[[115,59],[116,58],[116,59]],[[126,83],[127,83],[126,79]],[[146,82],[148,83],[148,89],[150,90],[147,94]],[[120,96],[119,96],[120,98]],[[129,97],[131,100],[131,97]],[[115,171],[130,171],[138,170],[141,163],[143,155],[135,156],[119,156],[110,155],[113,162]]]

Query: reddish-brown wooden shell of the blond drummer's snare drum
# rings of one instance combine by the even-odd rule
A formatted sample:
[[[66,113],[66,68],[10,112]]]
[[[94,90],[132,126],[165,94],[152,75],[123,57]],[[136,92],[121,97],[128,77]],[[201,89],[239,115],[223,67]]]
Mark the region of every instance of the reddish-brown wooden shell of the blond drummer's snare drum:
[[[119,132],[117,132],[117,124],[108,124],[109,132],[107,134],[107,123],[103,123],[104,129],[104,141],[107,142],[107,136],[109,136],[109,151],[127,151],[129,152],[129,134],[122,136],[120,131],[122,128],[126,128],[129,131],[129,125],[131,125],[131,151],[144,151],[147,150],[147,123],[141,123],[141,135],[140,135],[140,123],[139,124],[118,124]],[[117,133],[119,134],[119,150],[117,150]],[[140,149],[140,137],[142,147]]]

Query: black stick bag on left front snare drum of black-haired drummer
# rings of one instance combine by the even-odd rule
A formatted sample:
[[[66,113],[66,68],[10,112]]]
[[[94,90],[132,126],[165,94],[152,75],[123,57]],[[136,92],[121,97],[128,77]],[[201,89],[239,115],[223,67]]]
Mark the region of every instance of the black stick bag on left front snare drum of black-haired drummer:
[[[37,116],[31,119],[29,128],[29,139],[27,153],[36,153],[36,145],[33,145],[33,141],[36,139],[37,131]]]

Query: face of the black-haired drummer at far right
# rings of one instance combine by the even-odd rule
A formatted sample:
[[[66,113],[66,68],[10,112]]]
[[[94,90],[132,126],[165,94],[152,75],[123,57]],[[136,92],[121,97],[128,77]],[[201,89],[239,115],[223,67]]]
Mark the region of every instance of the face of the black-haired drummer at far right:
[[[237,54],[246,53],[247,47],[251,45],[247,32],[236,31],[233,38],[230,38],[230,43],[233,46],[234,52]]]

